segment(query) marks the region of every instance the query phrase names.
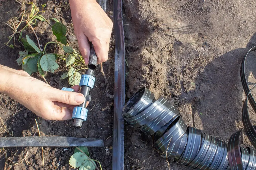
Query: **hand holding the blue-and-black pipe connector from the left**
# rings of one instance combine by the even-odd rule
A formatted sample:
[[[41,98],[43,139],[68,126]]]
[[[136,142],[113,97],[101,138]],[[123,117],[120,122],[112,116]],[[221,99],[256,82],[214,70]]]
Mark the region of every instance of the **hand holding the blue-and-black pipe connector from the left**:
[[[78,85],[72,87],[76,92],[59,90],[23,70],[0,65],[0,77],[0,92],[46,120],[71,119],[73,108],[85,100],[81,93],[76,93]]]

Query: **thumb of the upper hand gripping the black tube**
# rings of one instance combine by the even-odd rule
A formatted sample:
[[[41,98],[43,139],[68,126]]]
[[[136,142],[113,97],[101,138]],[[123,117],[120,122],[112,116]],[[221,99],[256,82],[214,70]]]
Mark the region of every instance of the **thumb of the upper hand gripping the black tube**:
[[[83,56],[84,62],[86,65],[88,65],[89,57],[90,57],[90,44],[88,42],[88,38],[84,35],[84,33],[80,33],[78,35],[77,41],[78,41],[78,46]]]

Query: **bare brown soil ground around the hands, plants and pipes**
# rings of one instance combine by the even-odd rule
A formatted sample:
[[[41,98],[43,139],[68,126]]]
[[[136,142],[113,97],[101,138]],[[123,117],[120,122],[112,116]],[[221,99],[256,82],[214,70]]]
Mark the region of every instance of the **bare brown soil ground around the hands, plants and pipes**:
[[[112,1],[107,2],[106,12],[113,19]],[[34,3],[38,6],[47,3],[43,16],[57,18],[68,26],[68,43],[79,51],[68,3],[46,0]],[[29,5],[26,7],[29,9]],[[240,63],[247,51],[256,44],[254,8],[256,5],[253,1],[235,0],[123,1],[129,71],[126,76],[127,98],[140,87],[146,86],[157,98],[164,96],[173,103],[187,125],[228,141],[230,135],[242,127],[241,111],[245,95],[240,80]],[[14,0],[1,1],[0,21],[7,22],[19,16],[24,9],[25,5],[21,7]],[[1,48],[8,41],[7,36],[12,34],[12,30],[3,23],[0,23],[0,29]],[[46,22],[39,22],[34,29],[41,44],[54,40]],[[26,33],[35,40],[30,29],[23,36]],[[16,45],[20,44],[17,42]],[[17,47],[1,48],[0,64],[21,69],[15,61],[19,50]],[[254,55],[247,59],[250,85],[255,83]],[[102,169],[111,169],[113,57],[114,38],[111,40],[109,60],[103,63],[108,89],[98,66],[96,86],[91,90],[93,101],[89,107],[92,110],[82,128],[74,128],[72,120],[46,121],[8,96],[0,94],[1,137],[10,137],[10,134],[33,136],[37,132],[37,119],[42,136],[103,138],[105,146],[89,148],[89,152],[93,159],[101,162]],[[48,73],[46,80],[51,86],[61,89],[69,85],[67,79],[59,80],[66,71],[63,63],[59,64],[60,68],[54,74]],[[33,76],[41,80],[37,74]],[[255,122],[255,115],[251,115],[251,119]],[[151,137],[125,123],[125,169],[169,169],[166,160],[152,147],[152,142]],[[29,164],[24,161],[14,165],[24,158],[26,152]],[[0,169],[71,169],[69,158],[72,154],[73,148],[45,147],[43,166],[41,148],[2,148]],[[188,168],[170,163],[170,169]]]

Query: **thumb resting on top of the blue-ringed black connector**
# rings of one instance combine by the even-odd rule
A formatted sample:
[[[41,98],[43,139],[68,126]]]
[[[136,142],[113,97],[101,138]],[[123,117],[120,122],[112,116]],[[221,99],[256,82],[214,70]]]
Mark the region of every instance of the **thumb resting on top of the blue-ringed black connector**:
[[[81,93],[63,91],[56,88],[53,88],[50,93],[53,96],[53,101],[58,101],[70,105],[79,105],[85,100],[84,95]]]

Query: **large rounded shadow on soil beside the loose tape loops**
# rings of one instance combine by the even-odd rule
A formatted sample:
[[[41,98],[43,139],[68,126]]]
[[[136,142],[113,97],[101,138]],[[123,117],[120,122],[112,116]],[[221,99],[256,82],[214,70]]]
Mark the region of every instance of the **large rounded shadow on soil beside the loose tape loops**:
[[[181,96],[187,98],[187,103],[192,106],[195,127],[202,126],[205,133],[228,141],[237,126],[242,126],[241,111],[245,94],[240,66],[244,56],[255,44],[256,33],[246,48],[228,51],[210,62],[203,70],[199,69],[195,90]],[[251,52],[246,60],[247,80],[248,77],[256,76],[255,63],[255,53]]]

